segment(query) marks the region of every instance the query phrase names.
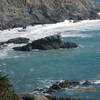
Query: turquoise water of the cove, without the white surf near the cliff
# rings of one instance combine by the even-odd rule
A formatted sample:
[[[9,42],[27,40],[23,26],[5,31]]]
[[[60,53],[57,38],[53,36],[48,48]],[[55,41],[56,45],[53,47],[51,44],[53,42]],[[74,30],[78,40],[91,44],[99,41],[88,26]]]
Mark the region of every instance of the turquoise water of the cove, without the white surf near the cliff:
[[[79,31],[79,34],[85,34],[87,37],[64,38],[64,41],[79,44],[80,47],[76,49],[33,52],[9,50],[9,54],[14,57],[0,59],[0,71],[8,74],[17,93],[32,93],[34,89],[48,87],[57,80],[99,81],[100,29]],[[58,94],[85,100],[100,100],[100,91],[64,90],[55,95]]]

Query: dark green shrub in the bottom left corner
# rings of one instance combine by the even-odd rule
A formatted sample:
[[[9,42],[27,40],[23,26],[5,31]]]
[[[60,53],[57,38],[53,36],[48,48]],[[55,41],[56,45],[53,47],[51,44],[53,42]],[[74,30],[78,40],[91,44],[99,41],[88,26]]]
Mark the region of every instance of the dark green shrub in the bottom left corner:
[[[0,74],[0,100],[18,100],[7,76]]]

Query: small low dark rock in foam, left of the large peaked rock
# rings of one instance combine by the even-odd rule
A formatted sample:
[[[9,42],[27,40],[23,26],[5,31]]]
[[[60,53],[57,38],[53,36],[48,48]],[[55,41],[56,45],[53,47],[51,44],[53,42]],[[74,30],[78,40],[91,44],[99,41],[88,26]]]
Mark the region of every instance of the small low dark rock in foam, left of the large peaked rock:
[[[21,43],[28,43],[28,42],[29,42],[28,38],[19,37],[19,38],[10,39],[6,43],[21,44]]]

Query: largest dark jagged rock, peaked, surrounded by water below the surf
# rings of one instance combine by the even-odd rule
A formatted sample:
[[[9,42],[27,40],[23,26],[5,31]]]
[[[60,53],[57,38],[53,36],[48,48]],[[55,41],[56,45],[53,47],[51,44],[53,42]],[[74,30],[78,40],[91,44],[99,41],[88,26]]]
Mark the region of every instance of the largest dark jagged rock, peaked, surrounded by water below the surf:
[[[75,43],[63,42],[61,35],[57,34],[39,40],[35,40],[26,46],[15,47],[13,49],[17,51],[31,51],[32,49],[51,50],[59,48],[76,48],[76,47],[78,47],[78,45]]]

